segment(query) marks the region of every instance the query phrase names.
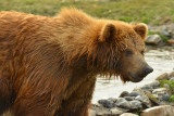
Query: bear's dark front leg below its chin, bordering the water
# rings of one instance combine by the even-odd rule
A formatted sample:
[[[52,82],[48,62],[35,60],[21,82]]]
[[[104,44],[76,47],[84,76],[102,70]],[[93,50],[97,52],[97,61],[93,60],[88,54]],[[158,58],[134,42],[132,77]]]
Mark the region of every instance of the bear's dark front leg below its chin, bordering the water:
[[[62,107],[54,116],[88,116],[96,77],[88,78],[82,82],[70,99],[62,101]]]

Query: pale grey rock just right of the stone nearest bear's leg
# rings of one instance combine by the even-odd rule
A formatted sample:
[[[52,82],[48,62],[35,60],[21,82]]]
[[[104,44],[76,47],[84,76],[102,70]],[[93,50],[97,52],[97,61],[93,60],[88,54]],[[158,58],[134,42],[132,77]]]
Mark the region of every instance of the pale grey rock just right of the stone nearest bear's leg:
[[[126,108],[126,109],[130,108],[129,102],[126,101],[124,98],[119,98],[116,103],[115,103],[115,106],[119,106],[121,108]]]

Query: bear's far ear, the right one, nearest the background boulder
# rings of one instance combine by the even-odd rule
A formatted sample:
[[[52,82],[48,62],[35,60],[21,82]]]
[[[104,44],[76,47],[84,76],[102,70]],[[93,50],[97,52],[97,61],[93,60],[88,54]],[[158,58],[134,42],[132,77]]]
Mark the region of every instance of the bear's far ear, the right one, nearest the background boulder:
[[[134,25],[133,27],[134,27],[134,30],[145,40],[148,31],[147,25],[140,23],[140,24]]]

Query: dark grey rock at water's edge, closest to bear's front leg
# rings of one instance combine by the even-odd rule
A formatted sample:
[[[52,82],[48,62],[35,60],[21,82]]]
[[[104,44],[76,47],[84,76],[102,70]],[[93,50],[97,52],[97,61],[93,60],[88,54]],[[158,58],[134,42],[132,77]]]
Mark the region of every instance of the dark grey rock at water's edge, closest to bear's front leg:
[[[102,104],[107,108],[112,108],[114,106],[114,102],[111,100],[99,100],[99,104]]]

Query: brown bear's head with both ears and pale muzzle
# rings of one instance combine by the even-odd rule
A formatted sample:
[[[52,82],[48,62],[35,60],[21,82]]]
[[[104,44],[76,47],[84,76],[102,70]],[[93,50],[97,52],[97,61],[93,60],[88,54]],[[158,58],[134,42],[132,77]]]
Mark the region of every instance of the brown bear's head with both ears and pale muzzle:
[[[105,23],[88,52],[88,66],[103,75],[138,82],[153,69],[144,57],[147,26],[123,22]]]

